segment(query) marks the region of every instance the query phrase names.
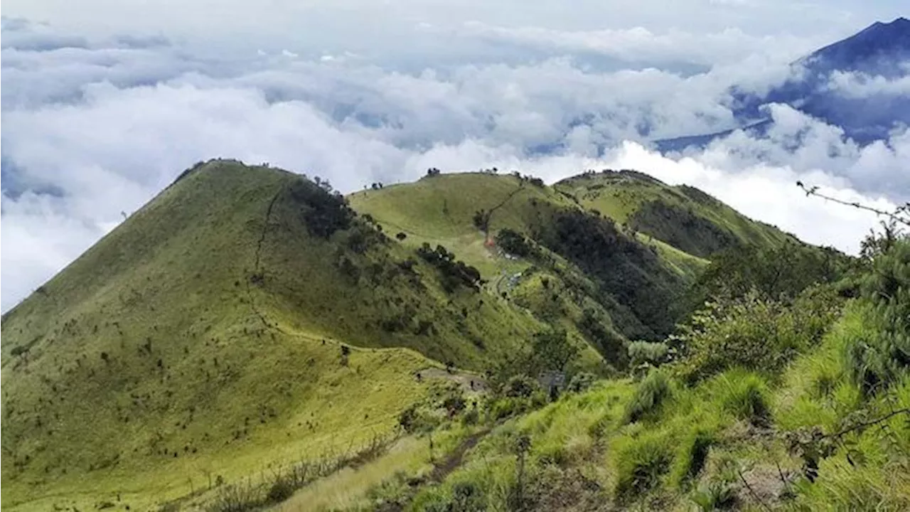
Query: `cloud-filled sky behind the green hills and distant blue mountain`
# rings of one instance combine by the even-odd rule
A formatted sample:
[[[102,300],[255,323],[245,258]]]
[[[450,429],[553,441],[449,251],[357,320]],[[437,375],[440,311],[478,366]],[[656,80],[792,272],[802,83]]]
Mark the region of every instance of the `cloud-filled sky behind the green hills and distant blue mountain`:
[[[901,15],[897,2],[3,4],[0,311],[216,157],[343,190],[430,167],[550,181],[641,169],[846,251],[875,220],[807,200],[797,179],[882,206],[910,199],[904,130],[859,148],[784,106],[766,139],[736,133],[672,159],[648,149],[733,128],[730,86],[780,83],[799,56]],[[838,87],[910,93],[907,80],[854,78]]]

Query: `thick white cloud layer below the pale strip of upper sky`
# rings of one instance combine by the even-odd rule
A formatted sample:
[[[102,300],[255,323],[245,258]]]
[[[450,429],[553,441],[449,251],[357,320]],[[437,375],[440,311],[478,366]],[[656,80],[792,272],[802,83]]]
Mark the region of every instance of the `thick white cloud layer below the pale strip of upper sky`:
[[[411,28],[431,48],[456,41],[440,53],[450,58],[420,65],[423,57],[406,53],[226,52],[162,36],[83,37],[0,22],[0,311],[183,169],[216,157],[268,161],[344,191],[416,179],[430,167],[496,166],[550,181],[641,169],[847,251],[875,220],[805,198],[797,179],[880,206],[910,191],[900,169],[910,154],[905,131],[859,148],[839,128],[785,106],[769,108],[776,123],[767,137],[734,132],[672,159],[648,149],[659,138],[733,128],[728,87],[783,81],[793,48],[811,37]],[[490,48],[498,57],[484,54]],[[704,70],[686,71],[693,66]],[[905,87],[838,80],[855,94]]]

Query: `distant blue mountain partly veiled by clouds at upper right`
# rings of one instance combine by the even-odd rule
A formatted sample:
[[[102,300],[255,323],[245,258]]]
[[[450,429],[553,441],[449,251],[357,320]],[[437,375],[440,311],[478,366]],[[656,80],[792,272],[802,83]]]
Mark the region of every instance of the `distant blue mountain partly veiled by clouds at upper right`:
[[[910,124],[910,97],[899,91],[869,87],[875,80],[910,76],[910,20],[875,23],[790,65],[791,77],[764,95],[733,87],[733,114],[739,128],[763,137],[772,119],[765,106],[786,104],[844,129],[848,138],[869,144]],[[704,147],[734,130],[663,139],[661,151]]]

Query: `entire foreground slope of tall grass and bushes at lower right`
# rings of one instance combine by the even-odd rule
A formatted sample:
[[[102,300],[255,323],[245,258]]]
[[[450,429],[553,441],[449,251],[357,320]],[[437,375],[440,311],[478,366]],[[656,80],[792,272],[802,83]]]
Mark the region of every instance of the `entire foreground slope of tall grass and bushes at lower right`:
[[[348,509],[907,509],[910,241],[870,247],[834,279],[722,267],[732,287],[663,343],[631,347],[630,374],[577,375],[549,401],[533,386],[494,392],[463,453]]]

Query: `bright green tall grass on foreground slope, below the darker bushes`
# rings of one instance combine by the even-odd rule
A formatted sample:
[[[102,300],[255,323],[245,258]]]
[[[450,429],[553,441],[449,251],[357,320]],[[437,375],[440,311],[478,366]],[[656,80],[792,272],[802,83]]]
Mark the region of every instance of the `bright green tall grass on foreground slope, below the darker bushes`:
[[[878,329],[867,307],[850,302],[822,343],[784,374],[732,369],[693,387],[670,379],[662,404],[631,424],[629,404],[647,383],[607,381],[565,396],[496,428],[443,485],[424,488],[409,509],[449,503],[465,483],[491,508],[504,507],[518,474],[514,440],[529,435],[525,485],[533,510],[553,504],[692,510],[711,488],[728,489],[728,509],[906,510],[910,424],[895,411],[910,406],[910,379],[903,375],[890,389],[864,396],[851,376],[849,347]],[[757,405],[767,408],[768,425],[753,424],[754,411],[764,410]],[[862,421],[870,425],[843,436],[814,483],[804,478],[803,460],[788,450],[785,433],[846,431],[845,425]],[[703,450],[695,449],[699,443]],[[629,493],[630,485],[641,491]]]

